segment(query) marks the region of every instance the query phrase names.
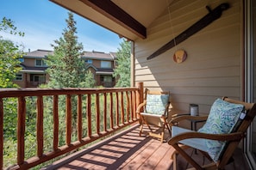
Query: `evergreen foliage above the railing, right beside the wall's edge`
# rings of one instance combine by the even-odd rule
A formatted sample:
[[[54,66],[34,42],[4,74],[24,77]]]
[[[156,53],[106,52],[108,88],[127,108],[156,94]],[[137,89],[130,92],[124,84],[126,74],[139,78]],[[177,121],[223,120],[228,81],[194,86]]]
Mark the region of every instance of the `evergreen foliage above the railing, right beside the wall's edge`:
[[[116,54],[117,68],[114,70],[114,76],[117,79],[116,87],[130,87],[131,81],[131,42],[123,40]]]

